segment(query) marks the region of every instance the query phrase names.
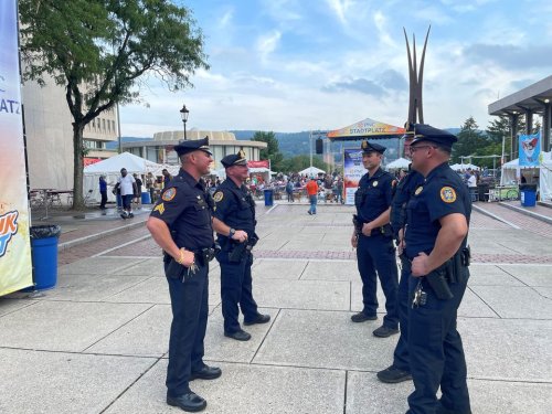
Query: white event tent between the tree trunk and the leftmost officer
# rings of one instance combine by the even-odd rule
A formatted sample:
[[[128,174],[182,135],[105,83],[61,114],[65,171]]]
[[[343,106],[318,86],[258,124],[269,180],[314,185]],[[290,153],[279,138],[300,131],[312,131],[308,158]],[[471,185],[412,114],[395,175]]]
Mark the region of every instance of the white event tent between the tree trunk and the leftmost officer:
[[[167,168],[171,174],[178,173],[179,166],[162,166],[157,162],[148,161],[147,159],[135,156],[130,152],[123,152],[103,161],[93,163],[84,169],[83,177],[83,193],[84,197],[92,190],[89,199],[100,201],[99,194],[99,176],[105,176],[108,189],[107,200],[115,201],[115,195],[112,193],[113,187],[117,183],[120,177],[120,169],[125,168],[129,174],[147,174],[152,172],[153,176],[161,176],[161,170]],[[142,191],[145,188],[142,187]]]

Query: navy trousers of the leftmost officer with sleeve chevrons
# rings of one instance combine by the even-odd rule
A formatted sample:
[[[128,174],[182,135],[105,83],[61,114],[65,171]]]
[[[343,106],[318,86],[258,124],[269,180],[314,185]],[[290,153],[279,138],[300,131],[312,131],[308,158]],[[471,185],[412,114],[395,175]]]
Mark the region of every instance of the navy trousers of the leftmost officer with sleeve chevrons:
[[[190,373],[203,368],[203,340],[209,315],[209,264],[197,265],[197,272],[187,275],[183,280],[167,277],[172,323],[166,384],[167,393],[173,397],[190,392]]]

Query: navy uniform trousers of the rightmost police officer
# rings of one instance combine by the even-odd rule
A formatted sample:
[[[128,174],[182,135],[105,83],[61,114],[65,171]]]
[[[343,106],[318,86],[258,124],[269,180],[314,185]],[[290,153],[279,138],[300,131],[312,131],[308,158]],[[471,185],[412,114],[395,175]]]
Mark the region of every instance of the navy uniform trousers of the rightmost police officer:
[[[414,295],[421,280],[427,299],[425,305],[408,310],[408,355],[415,388],[408,396],[408,413],[435,413],[439,405],[436,396],[439,385],[440,405],[456,414],[471,412],[466,359],[456,330],[457,310],[468,278],[469,270],[463,267],[460,280],[449,284],[454,297],[442,300],[424,277],[410,277],[410,294]]]

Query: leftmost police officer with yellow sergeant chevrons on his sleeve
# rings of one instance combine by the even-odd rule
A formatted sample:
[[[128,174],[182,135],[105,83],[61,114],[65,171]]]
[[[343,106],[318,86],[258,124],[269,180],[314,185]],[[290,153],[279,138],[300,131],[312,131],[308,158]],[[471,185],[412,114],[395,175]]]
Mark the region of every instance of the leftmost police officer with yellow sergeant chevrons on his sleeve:
[[[221,370],[203,362],[208,320],[209,257],[213,246],[212,199],[201,176],[212,161],[208,138],[181,141],[174,147],[182,167],[167,183],[147,222],[164,252],[172,325],[167,370],[167,403],[184,411],[201,411],[206,402],[189,381],[213,380]]]

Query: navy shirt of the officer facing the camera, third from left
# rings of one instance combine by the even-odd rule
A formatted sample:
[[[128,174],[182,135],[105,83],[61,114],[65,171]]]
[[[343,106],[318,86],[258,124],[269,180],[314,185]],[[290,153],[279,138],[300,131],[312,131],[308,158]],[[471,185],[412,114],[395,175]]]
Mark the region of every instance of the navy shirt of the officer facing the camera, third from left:
[[[378,219],[389,209],[393,200],[393,187],[396,180],[389,172],[379,168],[372,177],[368,172],[359,181],[354,193],[357,214],[364,222]]]

